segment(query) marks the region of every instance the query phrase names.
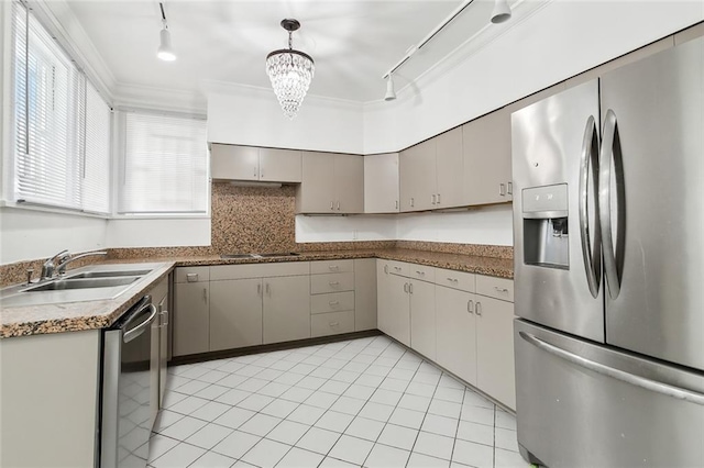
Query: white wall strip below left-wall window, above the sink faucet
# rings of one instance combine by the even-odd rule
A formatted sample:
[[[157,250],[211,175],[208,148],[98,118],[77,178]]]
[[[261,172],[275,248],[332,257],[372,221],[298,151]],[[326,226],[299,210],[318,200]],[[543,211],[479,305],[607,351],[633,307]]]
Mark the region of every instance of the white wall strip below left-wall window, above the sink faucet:
[[[105,248],[107,220],[0,208],[0,265],[69,252]]]

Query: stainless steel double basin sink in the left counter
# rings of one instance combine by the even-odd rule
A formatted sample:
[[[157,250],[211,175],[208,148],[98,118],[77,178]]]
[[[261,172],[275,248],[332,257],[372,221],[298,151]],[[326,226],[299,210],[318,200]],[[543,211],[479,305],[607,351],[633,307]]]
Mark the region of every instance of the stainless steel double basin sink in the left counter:
[[[26,307],[114,299],[153,269],[148,265],[84,267],[56,279],[6,288],[0,302],[2,307]]]

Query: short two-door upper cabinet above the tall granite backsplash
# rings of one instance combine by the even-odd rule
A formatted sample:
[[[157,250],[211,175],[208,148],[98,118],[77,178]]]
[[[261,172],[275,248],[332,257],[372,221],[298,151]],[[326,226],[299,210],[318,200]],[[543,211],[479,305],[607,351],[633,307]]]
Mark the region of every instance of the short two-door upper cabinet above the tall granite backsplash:
[[[213,179],[300,182],[301,155],[295,149],[221,145],[210,148]]]

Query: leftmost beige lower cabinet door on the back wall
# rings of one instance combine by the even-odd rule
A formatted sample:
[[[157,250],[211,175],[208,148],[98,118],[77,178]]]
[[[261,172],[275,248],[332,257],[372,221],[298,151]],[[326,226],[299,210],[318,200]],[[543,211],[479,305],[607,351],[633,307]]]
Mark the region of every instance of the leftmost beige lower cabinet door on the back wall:
[[[174,356],[210,350],[210,283],[178,282],[175,286]]]

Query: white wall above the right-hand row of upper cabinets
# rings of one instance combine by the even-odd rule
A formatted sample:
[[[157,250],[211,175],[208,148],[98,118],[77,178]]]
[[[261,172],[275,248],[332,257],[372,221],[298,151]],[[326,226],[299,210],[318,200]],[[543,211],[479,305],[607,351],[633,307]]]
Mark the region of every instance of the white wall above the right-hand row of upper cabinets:
[[[552,1],[396,101],[366,104],[364,154],[411,146],[703,20],[702,1]]]

